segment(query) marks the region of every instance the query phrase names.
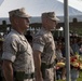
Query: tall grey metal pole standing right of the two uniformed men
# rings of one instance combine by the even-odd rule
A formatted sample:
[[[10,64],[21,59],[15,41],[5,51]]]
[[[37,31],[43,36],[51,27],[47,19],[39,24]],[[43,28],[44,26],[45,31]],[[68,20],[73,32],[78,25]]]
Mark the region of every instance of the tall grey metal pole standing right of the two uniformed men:
[[[70,48],[69,48],[69,16],[68,0],[64,0],[64,19],[65,19],[65,49],[66,49],[66,81],[70,81]]]

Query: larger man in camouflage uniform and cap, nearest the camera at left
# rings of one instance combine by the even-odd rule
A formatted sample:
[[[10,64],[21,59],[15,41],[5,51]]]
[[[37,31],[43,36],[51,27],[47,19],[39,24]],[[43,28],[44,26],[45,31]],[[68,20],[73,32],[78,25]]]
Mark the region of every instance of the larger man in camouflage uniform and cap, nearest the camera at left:
[[[12,30],[3,42],[3,75],[5,81],[32,81],[35,66],[32,50],[24,32],[29,28],[29,15],[25,9],[9,12]],[[15,73],[15,80],[14,80]]]

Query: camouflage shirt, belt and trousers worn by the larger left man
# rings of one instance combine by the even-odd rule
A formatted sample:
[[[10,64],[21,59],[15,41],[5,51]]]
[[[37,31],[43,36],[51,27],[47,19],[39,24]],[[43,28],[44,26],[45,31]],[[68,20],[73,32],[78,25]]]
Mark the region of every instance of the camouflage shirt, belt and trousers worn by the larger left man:
[[[35,72],[32,50],[24,35],[12,30],[6,36],[3,48],[2,59],[13,63],[16,81],[32,81]]]

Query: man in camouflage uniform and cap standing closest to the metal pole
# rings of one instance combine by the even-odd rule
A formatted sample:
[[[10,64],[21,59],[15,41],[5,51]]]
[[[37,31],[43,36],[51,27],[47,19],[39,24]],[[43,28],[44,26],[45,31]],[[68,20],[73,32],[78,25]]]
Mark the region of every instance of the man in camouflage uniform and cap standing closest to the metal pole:
[[[51,30],[59,21],[54,12],[42,14],[42,28],[33,38],[33,58],[37,81],[54,81],[55,43]]]

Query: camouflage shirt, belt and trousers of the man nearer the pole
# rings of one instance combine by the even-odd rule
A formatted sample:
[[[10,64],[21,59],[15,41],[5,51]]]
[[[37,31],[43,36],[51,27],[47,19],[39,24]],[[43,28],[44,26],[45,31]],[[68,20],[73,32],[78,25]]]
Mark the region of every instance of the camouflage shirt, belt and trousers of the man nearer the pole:
[[[41,28],[33,38],[33,50],[40,51],[44,81],[54,81],[55,43],[51,31]]]

